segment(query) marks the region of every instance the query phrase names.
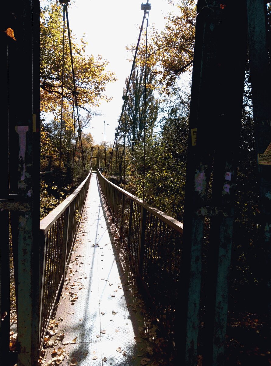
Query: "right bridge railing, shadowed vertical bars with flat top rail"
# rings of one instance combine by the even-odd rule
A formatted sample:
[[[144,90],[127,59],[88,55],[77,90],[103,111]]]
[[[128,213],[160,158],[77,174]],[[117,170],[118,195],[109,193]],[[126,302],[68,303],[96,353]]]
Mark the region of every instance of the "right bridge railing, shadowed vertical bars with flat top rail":
[[[133,270],[175,344],[183,224],[109,182],[100,171],[98,178]]]

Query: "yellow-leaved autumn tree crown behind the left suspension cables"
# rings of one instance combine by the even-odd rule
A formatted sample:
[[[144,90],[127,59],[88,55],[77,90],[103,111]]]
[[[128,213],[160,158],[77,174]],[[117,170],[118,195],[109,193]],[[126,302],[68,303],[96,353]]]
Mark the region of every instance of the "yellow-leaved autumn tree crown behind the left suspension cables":
[[[62,94],[62,5],[51,2],[41,8],[41,108],[44,112],[59,112]],[[73,79],[67,27],[64,42],[64,90],[65,108],[73,105]],[[89,108],[98,107],[101,100],[110,100],[104,93],[106,84],[114,82],[113,72],[106,71],[107,61],[99,56],[85,55],[87,43],[80,44],[71,33],[72,55],[75,71],[78,105],[90,113]]]

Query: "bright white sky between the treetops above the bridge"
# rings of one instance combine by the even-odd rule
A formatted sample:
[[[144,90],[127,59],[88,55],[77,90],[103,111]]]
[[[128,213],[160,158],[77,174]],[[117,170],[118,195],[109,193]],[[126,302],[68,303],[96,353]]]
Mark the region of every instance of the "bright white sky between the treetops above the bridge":
[[[118,79],[106,88],[106,94],[114,99],[103,102],[91,120],[90,132],[96,142],[104,141],[104,121],[106,141],[114,141],[115,127],[122,108],[122,93],[125,79],[130,75],[132,64],[126,60],[129,56],[126,45],[137,43],[144,12],[141,4],[146,0],[76,0],[76,5],[69,5],[69,23],[78,39],[85,33],[88,42],[87,53],[102,55],[109,61],[108,70],[114,71]],[[149,25],[163,29],[166,15],[172,10],[167,0],[149,0]],[[144,23],[144,27],[146,23]]]

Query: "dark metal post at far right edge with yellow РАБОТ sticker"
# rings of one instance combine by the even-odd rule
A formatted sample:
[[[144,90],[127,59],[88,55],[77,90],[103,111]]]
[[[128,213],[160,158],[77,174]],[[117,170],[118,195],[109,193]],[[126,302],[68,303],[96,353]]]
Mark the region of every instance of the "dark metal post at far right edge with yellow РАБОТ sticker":
[[[268,60],[267,34],[270,30],[267,32],[266,3],[247,0],[249,68],[257,153],[255,158],[259,171],[260,229],[266,259],[266,298],[271,329],[271,68]]]

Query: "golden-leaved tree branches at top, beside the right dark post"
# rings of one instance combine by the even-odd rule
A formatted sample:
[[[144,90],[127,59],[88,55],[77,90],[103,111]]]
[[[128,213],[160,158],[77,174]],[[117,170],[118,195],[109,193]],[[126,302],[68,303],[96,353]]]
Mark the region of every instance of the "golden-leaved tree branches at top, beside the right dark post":
[[[194,56],[196,0],[169,0],[174,12],[165,16],[165,29],[150,29],[148,36],[148,66],[153,68],[155,87],[172,93],[176,79],[191,70]],[[150,13],[151,14],[151,13]],[[135,45],[127,47],[133,54]],[[145,40],[141,40],[138,55],[145,59]]]

